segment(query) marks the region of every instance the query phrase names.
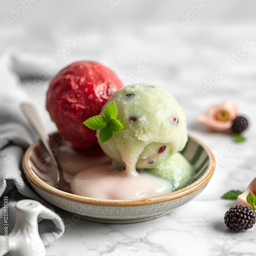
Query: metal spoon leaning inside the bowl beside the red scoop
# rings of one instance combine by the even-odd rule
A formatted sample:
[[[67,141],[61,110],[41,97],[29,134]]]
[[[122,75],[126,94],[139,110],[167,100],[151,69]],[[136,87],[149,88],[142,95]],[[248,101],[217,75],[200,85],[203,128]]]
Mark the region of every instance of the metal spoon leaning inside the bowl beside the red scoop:
[[[55,157],[55,155],[51,151],[50,137],[44,131],[44,128],[41,125],[39,116],[36,113],[35,108],[31,104],[28,104],[28,103],[22,103],[20,105],[20,107],[23,110],[26,117],[31,122],[31,124],[34,127],[37,134],[39,135],[39,138],[40,138],[42,144],[45,145],[46,150],[48,151],[50,157],[52,158],[54,165],[56,165],[56,167],[57,167],[56,168],[57,169],[57,180],[55,182],[54,187],[58,188],[59,190],[70,193],[69,183],[64,179],[63,170],[58,162],[58,159]]]

